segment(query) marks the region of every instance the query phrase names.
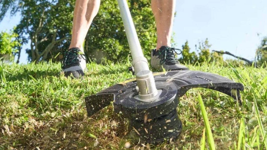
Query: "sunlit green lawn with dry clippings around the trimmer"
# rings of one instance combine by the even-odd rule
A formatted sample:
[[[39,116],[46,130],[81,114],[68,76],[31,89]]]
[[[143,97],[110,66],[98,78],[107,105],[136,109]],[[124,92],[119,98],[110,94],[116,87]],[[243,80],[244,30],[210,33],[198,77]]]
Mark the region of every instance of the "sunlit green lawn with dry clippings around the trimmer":
[[[128,121],[113,113],[113,106],[88,118],[84,98],[132,78],[128,66],[88,64],[84,80],[72,80],[59,74],[58,63],[1,64],[0,149],[125,149]],[[130,143],[130,149],[209,149],[210,133],[216,149],[266,149],[267,69],[215,62],[188,66],[243,83],[243,105],[217,91],[189,90],[177,108],[183,124],[179,138],[160,145]],[[205,121],[210,128],[203,132]]]

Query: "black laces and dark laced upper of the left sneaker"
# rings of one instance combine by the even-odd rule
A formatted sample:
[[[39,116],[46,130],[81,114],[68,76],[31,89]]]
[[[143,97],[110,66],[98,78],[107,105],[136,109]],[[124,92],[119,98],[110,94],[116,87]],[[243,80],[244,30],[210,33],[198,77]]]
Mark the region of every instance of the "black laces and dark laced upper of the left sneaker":
[[[81,62],[81,60],[78,59],[79,54],[84,60],[86,60],[86,56],[81,53],[79,49],[70,49],[68,51],[63,52],[64,57],[62,60],[62,67]]]

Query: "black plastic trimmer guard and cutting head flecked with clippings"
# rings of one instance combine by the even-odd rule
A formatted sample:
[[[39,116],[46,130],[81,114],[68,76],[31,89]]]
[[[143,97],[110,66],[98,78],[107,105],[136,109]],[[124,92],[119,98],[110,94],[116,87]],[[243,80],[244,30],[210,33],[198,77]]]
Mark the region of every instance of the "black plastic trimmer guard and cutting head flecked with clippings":
[[[168,71],[154,73],[158,99],[143,102],[136,99],[138,92],[135,78],[113,85],[99,93],[86,97],[88,116],[113,102],[114,111],[129,119],[128,137],[142,143],[158,143],[176,138],[182,129],[176,107],[179,97],[192,88],[207,88],[225,93],[241,105],[240,90],[244,86],[217,74],[200,71]],[[132,131],[132,132],[131,132]]]

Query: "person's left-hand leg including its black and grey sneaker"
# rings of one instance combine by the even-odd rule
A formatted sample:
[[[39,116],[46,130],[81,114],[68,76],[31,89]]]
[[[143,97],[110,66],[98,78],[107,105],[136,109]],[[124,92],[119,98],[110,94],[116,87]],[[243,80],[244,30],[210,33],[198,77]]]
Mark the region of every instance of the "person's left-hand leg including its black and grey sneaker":
[[[83,54],[83,42],[99,6],[100,0],[76,0],[71,42],[69,50],[64,54],[62,64],[62,70],[66,77],[70,75],[75,78],[84,76],[86,60]]]

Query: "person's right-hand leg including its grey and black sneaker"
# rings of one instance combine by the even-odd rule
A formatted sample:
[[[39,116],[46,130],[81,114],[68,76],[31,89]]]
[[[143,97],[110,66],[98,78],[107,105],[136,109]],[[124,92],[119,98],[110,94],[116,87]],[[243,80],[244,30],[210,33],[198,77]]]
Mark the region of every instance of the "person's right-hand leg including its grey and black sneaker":
[[[151,66],[157,70],[188,70],[175,56],[179,54],[171,46],[176,0],[151,0],[151,8],[156,20],[157,47],[151,51]]]

